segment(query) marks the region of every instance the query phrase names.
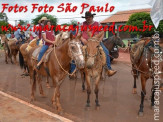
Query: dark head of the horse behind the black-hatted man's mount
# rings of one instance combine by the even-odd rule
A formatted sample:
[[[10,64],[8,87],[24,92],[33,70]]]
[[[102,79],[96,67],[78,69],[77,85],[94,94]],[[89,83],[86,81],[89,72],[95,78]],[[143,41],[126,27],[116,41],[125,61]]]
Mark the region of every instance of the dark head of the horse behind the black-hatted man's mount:
[[[120,47],[125,47],[126,46],[124,44],[124,42],[122,41],[122,39],[117,35],[114,35],[111,39],[113,40],[114,45],[118,45]]]

